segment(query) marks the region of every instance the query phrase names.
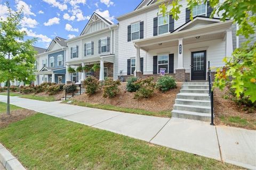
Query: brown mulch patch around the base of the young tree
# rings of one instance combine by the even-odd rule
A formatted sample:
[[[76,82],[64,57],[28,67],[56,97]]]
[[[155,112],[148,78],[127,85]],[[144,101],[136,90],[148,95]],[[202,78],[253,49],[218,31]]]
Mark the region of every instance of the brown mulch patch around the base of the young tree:
[[[10,123],[18,122],[27,116],[34,115],[36,112],[31,111],[29,109],[18,109],[15,111],[11,111],[11,115],[7,115],[6,113],[0,114],[0,128],[4,128]]]

